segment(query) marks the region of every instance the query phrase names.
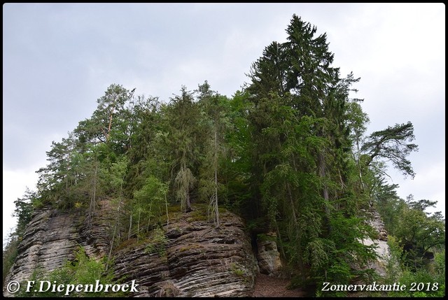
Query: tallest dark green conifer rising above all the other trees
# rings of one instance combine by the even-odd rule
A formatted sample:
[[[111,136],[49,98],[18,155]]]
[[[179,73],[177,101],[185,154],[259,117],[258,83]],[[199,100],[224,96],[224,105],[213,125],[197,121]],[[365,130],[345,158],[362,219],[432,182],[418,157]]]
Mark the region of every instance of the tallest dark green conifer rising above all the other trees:
[[[336,255],[343,249],[356,246],[356,257],[371,257],[357,242],[366,233],[356,219],[351,152],[351,133],[360,138],[366,119],[360,100],[350,99],[359,78],[339,77],[326,35],[316,36],[316,27],[297,15],[286,32],[286,43],[271,43],[253,64],[246,88],[253,103],[248,115],[252,184],[258,188],[253,201],[261,199],[261,215],[269,216],[281,251],[304,280],[307,270],[322,278],[325,269],[317,267],[326,265],[325,255],[307,259],[312,249],[334,252],[347,267],[366,261]],[[358,127],[352,130],[352,124]],[[344,226],[352,233],[346,241],[335,232]],[[334,267],[336,279],[345,271]]]

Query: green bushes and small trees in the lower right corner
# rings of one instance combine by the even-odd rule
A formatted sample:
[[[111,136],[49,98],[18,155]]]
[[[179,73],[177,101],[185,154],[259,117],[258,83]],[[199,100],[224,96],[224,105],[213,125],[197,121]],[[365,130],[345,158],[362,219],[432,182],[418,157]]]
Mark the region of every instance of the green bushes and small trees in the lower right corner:
[[[388,284],[407,286],[404,292],[389,292],[390,297],[444,297],[445,252],[444,220],[423,210],[431,201],[401,201],[395,236],[388,236],[390,257],[386,266]],[[432,253],[434,259],[428,259]]]

